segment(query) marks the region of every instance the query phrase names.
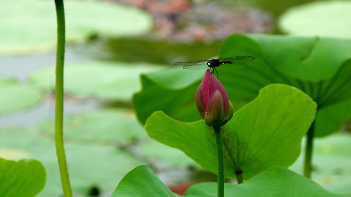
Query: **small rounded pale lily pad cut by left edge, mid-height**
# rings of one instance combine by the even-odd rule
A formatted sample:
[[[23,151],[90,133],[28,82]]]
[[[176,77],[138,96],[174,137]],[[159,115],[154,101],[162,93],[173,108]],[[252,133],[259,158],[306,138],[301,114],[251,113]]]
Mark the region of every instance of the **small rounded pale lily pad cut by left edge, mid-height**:
[[[31,107],[42,100],[42,94],[28,85],[0,78],[0,115]]]

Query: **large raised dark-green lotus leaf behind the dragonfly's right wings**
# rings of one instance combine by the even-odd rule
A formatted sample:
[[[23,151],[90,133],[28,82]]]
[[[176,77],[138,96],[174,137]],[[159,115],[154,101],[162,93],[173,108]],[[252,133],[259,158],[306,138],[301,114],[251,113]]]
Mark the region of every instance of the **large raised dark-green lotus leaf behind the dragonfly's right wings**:
[[[351,86],[351,81],[349,78],[351,77],[351,61],[346,60],[347,55],[344,54],[343,59],[340,54],[336,53],[337,57],[334,58],[334,61],[329,61],[329,64],[322,64],[324,60],[322,59],[314,59],[314,64],[306,65],[304,67],[302,64],[299,65],[301,73],[309,72],[307,67],[310,67],[311,72],[321,72],[325,75],[328,73],[332,73],[329,78],[319,81],[311,81],[311,80],[302,80],[293,77],[294,75],[298,75],[293,71],[294,65],[290,65],[286,63],[287,68],[290,71],[286,70],[286,74],[281,72],[282,67],[284,67],[283,60],[287,62],[295,62],[298,64],[301,57],[303,57],[304,52],[301,52],[302,49],[298,48],[295,51],[294,45],[292,43],[295,42],[310,42],[308,38],[299,38],[299,37],[291,37],[291,36],[263,36],[263,35],[255,35],[252,36],[254,39],[244,36],[244,35],[232,35],[229,36],[226,41],[223,43],[220,57],[233,56],[237,54],[252,54],[256,57],[256,59],[248,64],[244,64],[241,66],[230,67],[230,66],[222,66],[218,68],[218,72],[223,73],[222,75],[230,75],[234,76],[235,80],[232,78],[228,78],[223,76],[223,84],[227,86],[235,86],[241,91],[234,91],[231,93],[230,89],[228,90],[228,94],[233,94],[230,98],[251,98],[252,95],[257,94],[258,90],[262,88],[264,85],[269,83],[285,83],[289,85],[293,85],[298,87],[300,90],[304,91],[310,97],[312,97],[318,104],[319,107],[326,106],[332,103],[336,103],[340,100],[348,99],[351,96],[351,90],[347,87]],[[311,38],[313,39],[313,38]],[[258,45],[258,42],[261,45]],[[320,39],[320,42],[342,42],[343,40],[338,39]],[[351,40],[350,40],[351,41]],[[277,45],[281,43],[284,50],[278,51]],[[233,47],[235,46],[235,47]],[[279,45],[278,45],[279,46]],[[342,43],[338,45],[340,47],[340,53],[344,53],[344,48]],[[350,45],[351,46],[351,45]],[[296,47],[296,46],[295,46]],[[310,47],[310,46],[306,46]],[[313,49],[316,51],[317,46]],[[329,49],[326,45],[325,48]],[[336,46],[333,46],[336,47]],[[263,51],[263,49],[265,49]],[[327,50],[324,49],[324,50]],[[300,53],[298,53],[300,50]],[[320,52],[321,50],[319,50]],[[337,51],[336,49],[334,51]],[[286,53],[286,58],[283,53]],[[305,51],[306,52],[306,51]],[[318,53],[319,53],[318,52]],[[291,55],[291,54],[297,55]],[[317,52],[315,52],[317,53]],[[300,55],[298,55],[300,54]],[[349,54],[351,55],[351,54]],[[310,54],[312,58],[312,53]],[[321,61],[321,62],[320,62]],[[333,64],[333,65],[332,65]],[[306,68],[306,70],[301,70],[301,68]],[[330,67],[330,68],[325,68]],[[335,68],[332,68],[335,67]],[[336,69],[336,70],[335,70]],[[327,72],[328,71],[328,72]],[[311,78],[310,78],[311,79]]]

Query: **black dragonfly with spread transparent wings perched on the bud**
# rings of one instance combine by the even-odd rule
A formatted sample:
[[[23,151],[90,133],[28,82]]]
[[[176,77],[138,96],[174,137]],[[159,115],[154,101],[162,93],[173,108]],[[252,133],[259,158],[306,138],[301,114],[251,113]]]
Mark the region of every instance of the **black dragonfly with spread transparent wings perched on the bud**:
[[[225,57],[220,59],[208,59],[208,60],[199,60],[199,61],[183,61],[174,63],[175,65],[183,65],[183,69],[191,69],[191,70],[198,70],[198,69],[208,69],[213,74],[214,72],[218,72],[216,67],[223,65],[225,63],[228,64],[235,64],[241,65],[247,62],[254,60],[255,57],[252,56],[235,56],[235,57]]]

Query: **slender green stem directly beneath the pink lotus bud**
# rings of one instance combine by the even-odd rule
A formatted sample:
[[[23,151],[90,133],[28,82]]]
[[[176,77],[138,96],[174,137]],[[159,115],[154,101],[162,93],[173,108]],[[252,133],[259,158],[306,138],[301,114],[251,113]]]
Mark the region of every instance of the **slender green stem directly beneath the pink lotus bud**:
[[[217,196],[224,197],[224,162],[223,162],[223,145],[222,145],[221,127],[213,126],[213,130],[214,130],[214,136],[216,138],[216,147],[217,147],[217,165],[218,165]]]

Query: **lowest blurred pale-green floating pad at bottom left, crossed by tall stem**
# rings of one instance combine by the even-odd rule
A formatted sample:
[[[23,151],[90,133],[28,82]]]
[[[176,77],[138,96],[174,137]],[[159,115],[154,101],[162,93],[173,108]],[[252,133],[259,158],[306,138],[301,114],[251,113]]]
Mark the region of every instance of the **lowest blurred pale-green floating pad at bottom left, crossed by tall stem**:
[[[14,143],[15,139],[15,143]],[[143,162],[113,145],[65,144],[74,196],[86,196],[92,187],[102,193],[113,191],[129,170]],[[40,160],[47,171],[46,186],[38,197],[60,196],[62,187],[53,138],[38,136],[23,128],[0,129],[0,157]]]

